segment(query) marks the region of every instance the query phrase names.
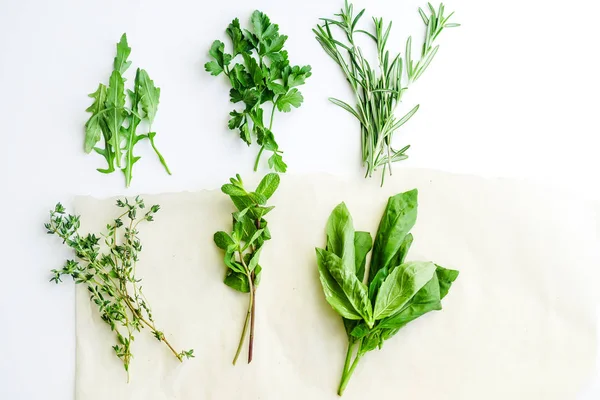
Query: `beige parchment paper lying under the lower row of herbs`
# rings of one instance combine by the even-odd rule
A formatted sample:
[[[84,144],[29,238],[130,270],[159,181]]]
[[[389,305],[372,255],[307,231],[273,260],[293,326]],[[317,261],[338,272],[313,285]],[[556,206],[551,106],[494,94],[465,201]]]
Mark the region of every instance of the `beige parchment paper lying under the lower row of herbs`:
[[[255,182],[259,176],[248,180]],[[254,186],[252,186],[254,187]],[[285,176],[262,252],[255,358],[232,366],[247,297],[222,283],[217,230],[231,229],[218,190],[144,196],[156,221],[140,225],[138,274],[157,325],[196,358],[180,364],[138,333],[131,382],[114,336],[84,288],[77,294],[78,400],[335,399],[346,350],[340,317],[321,291],[314,248],[333,207],[373,235],[388,196],[419,189],[408,259],[461,274],[444,309],[369,353],[344,398],[575,399],[595,371],[598,235],[595,215],[569,193],[525,183],[397,169],[376,180]],[[78,198],[84,230],[100,230],[114,200]],[[241,357],[243,359],[243,357]]]

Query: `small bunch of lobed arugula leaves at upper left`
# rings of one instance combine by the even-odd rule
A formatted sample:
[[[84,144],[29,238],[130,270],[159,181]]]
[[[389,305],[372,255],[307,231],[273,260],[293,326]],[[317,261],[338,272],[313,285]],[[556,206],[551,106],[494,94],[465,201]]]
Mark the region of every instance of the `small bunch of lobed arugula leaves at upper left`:
[[[127,35],[123,34],[117,43],[117,55],[113,62],[113,71],[108,86],[100,83],[98,89],[89,97],[94,99],[87,112],[92,115],[85,123],[84,150],[94,150],[106,159],[106,168],[98,168],[103,174],[110,174],[120,168],[125,175],[125,185],[131,184],[133,165],[140,159],[133,154],[134,146],[143,139],[148,139],[161,164],[169,175],[171,171],[164,157],[154,143],[156,132],[152,131],[152,123],[158,110],[160,88],[143,69],[137,69],[133,82],[133,90],[127,89],[125,96],[124,74],[131,65],[128,61],[131,47],[127,44]],[[128,100],[128,99],[129,100]],[[138,134],[141,122],[148,125],[148,132]],[[96,147],[104,139],[104,148]]]

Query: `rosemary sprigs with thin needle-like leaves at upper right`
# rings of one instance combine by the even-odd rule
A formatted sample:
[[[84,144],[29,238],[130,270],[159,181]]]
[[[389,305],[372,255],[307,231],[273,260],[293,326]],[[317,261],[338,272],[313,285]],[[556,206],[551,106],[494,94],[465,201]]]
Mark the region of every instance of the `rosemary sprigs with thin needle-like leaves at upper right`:
[[[357,24],[365,10],[354,16],[352,4],[345,1],[344,8],[338,20],[321,18],[323,25],[313,29],[316,39],[325,52],[341,67],[346,80],[350,83],[356,98],[356,107],[335,98],[329,100],[348,111],[361,125],[362,161],[366,166],[366,176],[383,167],[381,184],[385,177],[386,168],[392,174],[392,163],[408,158],[406,151],[410,146],[400,150],[392,148],[394,133],[404,125],[419,109],[413,107],[402,118],[395,116],[396,107],[402,101],[402,96],[408,86],[421,77],[425,69],[435,57],[439,46],[434,46],[444,28],[459,26],[448,22],[454,13],[444,16],[444,5],[440,4],[436,11],[429,4],[429,15],[419,8],[419,14],[426,27],[425,42],[421,49],[420,59],[412,58],[412,38],[406,41],[404,57],[400,54],[390,55],[386,50],[392,23],[383,23],[383,18],[373,18],[375,32],[357,29]],[[336,39],[332,28],[338,27],[343,32],[343,39]],[[378,71],[365,58],[360,46],[356,45],[356,36],[365,35],[373,39],[377,47]],[[341,40],[345,40],[343,43]]]

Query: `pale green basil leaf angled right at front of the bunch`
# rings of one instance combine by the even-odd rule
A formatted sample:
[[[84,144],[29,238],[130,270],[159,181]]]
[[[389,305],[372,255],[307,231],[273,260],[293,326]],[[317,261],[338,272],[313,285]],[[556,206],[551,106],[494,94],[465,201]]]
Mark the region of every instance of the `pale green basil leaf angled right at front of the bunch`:
[[[400,311],[435,274],[435,264],[412,261],[400,265],[383,281],[373,318],[380,320]]]

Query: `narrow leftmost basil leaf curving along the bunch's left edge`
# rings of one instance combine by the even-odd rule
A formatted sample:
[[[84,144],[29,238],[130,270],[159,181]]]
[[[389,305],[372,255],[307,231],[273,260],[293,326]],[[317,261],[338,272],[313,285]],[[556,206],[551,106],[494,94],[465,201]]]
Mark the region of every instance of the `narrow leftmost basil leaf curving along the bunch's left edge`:
[[[331,263],[339,263],[341,265],[341,259],[339,257],[336,261],[330,256],[331,253],[323,249],[316,249],[317,251],[317,266],[319,268],[319,278],[321,285],[323,286],[323,292],[325,293],[325,299],[336,310],[342,317],[351,320],[361,320],[362,316],[356,311],[348,297],[342,290],[342,287],[338,284],[336,279],[329,271]]]

